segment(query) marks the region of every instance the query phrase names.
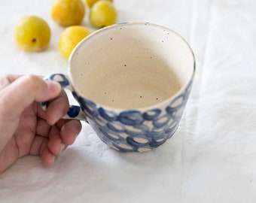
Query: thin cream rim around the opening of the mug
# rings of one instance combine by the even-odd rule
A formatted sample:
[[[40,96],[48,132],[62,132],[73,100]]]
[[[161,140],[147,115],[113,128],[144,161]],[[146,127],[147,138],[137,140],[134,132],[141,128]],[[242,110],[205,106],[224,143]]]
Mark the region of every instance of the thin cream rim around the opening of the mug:
[[[192,59],[193,59],[193,71],[189,77],[189,79],[186,81],[186,83],[184,83],[183,86],[181,86],[180,89],[178,89],[177,92],[175,92],[175,94],[173,94],[172,96],[170,96],[169,98],[166,98],[166,100],[162,101],[162,102],[159,102],[157,104],[154,104],[154,105],[149,105],[149,106],[145,106],[143,108],[115,108],[115,107],[111,107],[111,106],[107,106],[107,105],[102,105],[98,102],[94,102],[93,100],[91,100],[90,98],[87,98],[85,97],[81,91],[78,89],[78,87],[76,86],[75,84],[75,81],[73,80],[73,77],[72,77],[72,73],[71,73],[71,69],[72,69],[72,59],[74,58],[75,56],[75,52],[77,50],[80,49],[81,46],[83,46],[85,44],[86,41],[90,41],[90,38],[93,38],[95,35],[98,35],[99,33],[101,32],[104,32],[105,30],[108,30],[108,29],[113,29],[113,28],[116,28],[118,26],[125,26],[125,25],[139,25],[139,26],[142,26],[142,25],[148,25],[148,26],[153,26],[153,27],[158,27],[159,29],[163,29],[163,30],[168,30],[169,32],[172,32],[172,35],[176,35],[179,39],[181,39],[181,41],[183,41],[183,43],[187,46],[188,50],[190,51],[191,53],[191,56],[192,56]],[[81,40],[77,45],[76,47],[72,50],[72,53],[71,55],[69,56],[69,61],[68,61],[68,72],[69,72],[69,80],[72,81],[72,86],[73,86],[73,89],[75,90],[75,92],[78,94],[78,95],[81,95],[82,97],[86,98],[87,100],[89,100],[90,102],[93,102],[95,103],[97,106],[101,106],[102,108],[105,108],[105,109],[108,109],[108,110],[114,110],[114,111],[130,111],[130,110],[136,110],[136,111],[148,111],[150,109],[154,109],[154,108],[159,108],[160,106],[163,106],[165,104],[169,104],[170,102],[172,102],[175,98],[178,97],[178,95],[181,95],[182,92],[185,91],[185,89],[187,89],[189,86],[190,86],[190,83],[194,80],[194,75],[195,75],[195,72],[196,72],[196,59],[195,59],[195,55],[194,55],[194,51],[192,50],[192,48],[190,47],[190,44],[187,43],[187,41],[181,36],[179,35],[177,32],[173,31],[172,29],[169,29],[165,26],[161,26],[161,25],[158,25],[158,24],[155,24],[155,23],[143,23],[143,22],[127,22],[127,23],[117,23],[117,24],[114,24],[114,25],[111,25],[111,26],[106,26],[102,29],[98,29],[94,32],[92,32],[90,35],[88,35],[86,38],[84,38],[83,40]]]

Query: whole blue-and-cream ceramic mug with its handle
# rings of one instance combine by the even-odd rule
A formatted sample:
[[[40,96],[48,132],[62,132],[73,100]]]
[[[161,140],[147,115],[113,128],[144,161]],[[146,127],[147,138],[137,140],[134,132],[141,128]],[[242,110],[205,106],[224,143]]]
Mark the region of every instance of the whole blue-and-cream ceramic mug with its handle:
[[[69,74],[47,79],[78,101],[67,117],[86,120],[109,147],[141,152],[175,133],[194,73],[194,53],[180,35],[151,23],[120,23],[84,38],[69,58]]]

